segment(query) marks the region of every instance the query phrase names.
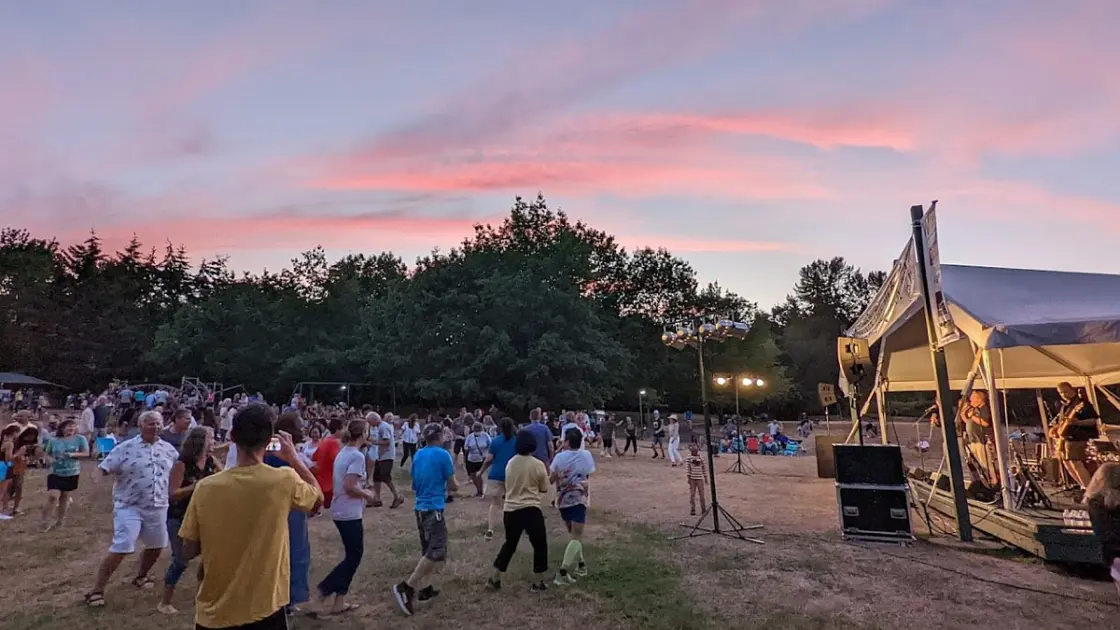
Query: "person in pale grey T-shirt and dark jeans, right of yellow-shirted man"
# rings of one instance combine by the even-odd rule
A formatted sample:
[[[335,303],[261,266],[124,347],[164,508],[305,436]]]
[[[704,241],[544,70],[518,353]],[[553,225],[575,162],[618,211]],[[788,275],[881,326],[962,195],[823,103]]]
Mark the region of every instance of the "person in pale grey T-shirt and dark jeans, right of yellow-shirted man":
[[[319,614],[333,615],[349,612],[358,606],[346,602],[351,582],[362,564],[365,549],[365,529],[362,516],[365,502],[373,493],[362,488],[365,481],[365,455],[361,448],[370,441],[370,423],[351,420],[346,426],[343,448],[335,457],[335,497],[330,503],[330,517],[343,539],[345,555],[342,562],[319,582]],[[333,601],[330,601],[333,599]]]

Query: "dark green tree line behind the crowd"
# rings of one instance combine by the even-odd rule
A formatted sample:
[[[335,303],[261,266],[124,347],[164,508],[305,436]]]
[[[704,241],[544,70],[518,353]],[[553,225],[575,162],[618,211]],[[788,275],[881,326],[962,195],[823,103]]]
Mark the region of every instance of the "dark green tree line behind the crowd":
[[[764,312],[543,196],[516,198],[501,224],[411,267],[391,252],[330,262],[315,248],[279,272],[239,274],[170,243],[106,252],[96,233],[63,247],[4,228],[0,371],[74,390],[193,376],[277,398],[300,381],[343,381],[368,383],[355,388],[366,401],[510,409],[635,408],[645,390],[646,404],[699,409],[696,352],[660,337],[681,318],[720,316],[752,328],[710,344],[708,370],[767,383],[743,392],[744,408],[811,410],[816,383],[837,380],[837,335],[883,279],[816,260]],[[732,398],[712,391],[717,407]]]

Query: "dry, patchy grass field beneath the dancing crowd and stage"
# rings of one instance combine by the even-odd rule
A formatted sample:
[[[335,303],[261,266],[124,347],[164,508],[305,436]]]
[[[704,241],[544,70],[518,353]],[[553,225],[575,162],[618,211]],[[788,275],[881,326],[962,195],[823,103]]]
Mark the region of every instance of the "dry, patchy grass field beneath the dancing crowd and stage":
[[[717,471],[731,464],[726,455]],[[1081,581],[1011,554],[977,554],[944,539],[908,548],[865,548],[840,540],[831,482],[815,479],[813,457],[754,457],[762,474],[720,474],[720,499],[743,521],[765,525],[765,546],[722,538],[669,541],[684,530],[688,489],[683,471],[638,458],[599,462],[594,482],[587,556],[591,576],[543,596],[528,592],[528,541],[514,558],[500,594],[483,585],[498,541],[485,543],[486,504],[459,499],[449,506],[451,559],[439,577],[444,595],[412,618],[402,618],[390,585],[407,576],[419,549],[407,509],[366,512],[366,554],[354,582],[362,608],[346,618],[297,619],[297,628],[400,629],[566,628],[1001,628],[1108,627],[1116,608],[1063,601],[970,580],[932,565],[1032,589],[1114,602],[1109,584]],[[402,475],[407,473],[400,472]],[[45,480],[28,479],[25,506],[43,504]],[[192,628],[193,572],[184,576],[176,605],[179,618],[159,615],[153,592],[113,585],[108,605],[82,606],[95,564],[111,537],[110,484],[83,476],[71,522],[41,534],[34,512],[0,524],[0,627],[8,630],[112,630]],[[547,510],[551,560],[556,566],[564,535]],[[498,531],[501,536],[501,531]],[[337,532],[326,518],[311,521],[315,584],[342,555]],[[886,555],[889,553],[890,555]],[[926,564],[917,564],[911,559]],[[131,571],[127,562],[122,567]],[[166,558],[157,565],[161,575]],[[115,580],[115,578],[114,578]],[[1073,603],[1074,605],[1070,605]],[[562,620],[562,621],[561,621]]]

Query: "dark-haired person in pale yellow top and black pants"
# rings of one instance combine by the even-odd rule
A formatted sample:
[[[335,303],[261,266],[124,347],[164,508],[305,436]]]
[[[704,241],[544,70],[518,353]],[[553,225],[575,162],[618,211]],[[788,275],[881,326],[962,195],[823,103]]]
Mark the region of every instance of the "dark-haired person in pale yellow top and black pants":
[[[533,546],[533,584],[530,590],[536,593],[548,590],[544,574],[549,571],[549,540],[541,498],[549,491],[549,473],[544,464],[533,456],[536,438],[529,429],[517,433],[516,450],[517,454],[505,469],[505,510],[502,515],[505,543],[494,559],[494,574],[487,578],[486,589],[497,591],[502,587],[502,574],[510,568],[521,535],[528,534]]]

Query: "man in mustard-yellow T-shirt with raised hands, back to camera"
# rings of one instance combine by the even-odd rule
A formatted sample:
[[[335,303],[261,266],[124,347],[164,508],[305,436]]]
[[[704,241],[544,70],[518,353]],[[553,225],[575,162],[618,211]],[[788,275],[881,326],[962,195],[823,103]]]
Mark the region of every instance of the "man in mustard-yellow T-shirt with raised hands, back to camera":
[[[179,529],[184,556],[202,554],[206,568],[195,606],[200,630],[288,628],[288,512],[316,510],[323,492],[286,433],[278,454],[291,467],[263,464],[277,446],[274,419],[261,404],[237,413],[237,465],[198,482]]]

